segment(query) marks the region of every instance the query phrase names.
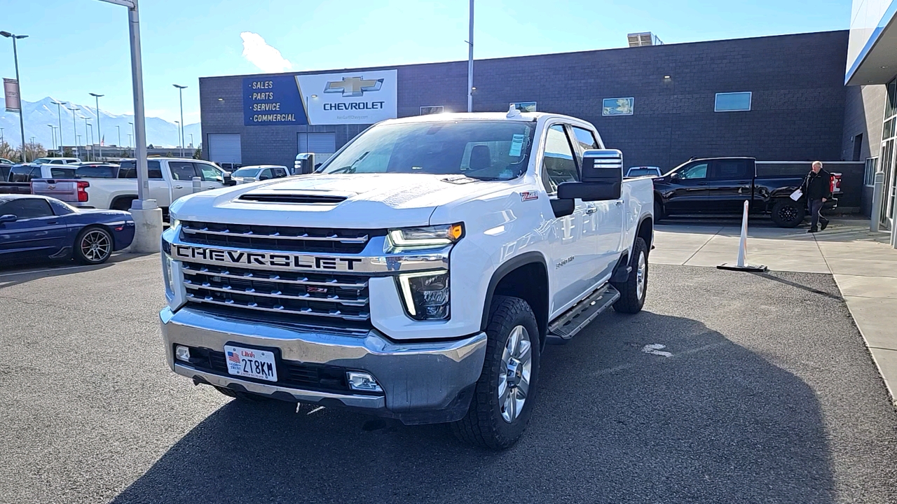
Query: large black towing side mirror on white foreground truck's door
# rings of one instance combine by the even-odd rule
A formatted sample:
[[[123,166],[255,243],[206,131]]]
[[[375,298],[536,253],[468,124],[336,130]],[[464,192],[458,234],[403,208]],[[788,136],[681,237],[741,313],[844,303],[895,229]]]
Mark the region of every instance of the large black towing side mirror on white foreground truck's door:
[[[582,154],[582,182],[558,186],[558,199],[609,201],[623,194],[623,152],[594,149]]]

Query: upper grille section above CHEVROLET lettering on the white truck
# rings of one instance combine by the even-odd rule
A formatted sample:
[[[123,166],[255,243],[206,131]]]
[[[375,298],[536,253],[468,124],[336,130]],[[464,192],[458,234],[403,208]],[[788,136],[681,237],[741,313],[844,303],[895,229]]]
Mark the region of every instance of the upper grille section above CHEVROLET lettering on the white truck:
[[[386,236],[386,230],[345,230],[259,226],[256,224],[219,224],[181,222],[181,239],[205,246],[242,249],[358,254],[373,236]]]

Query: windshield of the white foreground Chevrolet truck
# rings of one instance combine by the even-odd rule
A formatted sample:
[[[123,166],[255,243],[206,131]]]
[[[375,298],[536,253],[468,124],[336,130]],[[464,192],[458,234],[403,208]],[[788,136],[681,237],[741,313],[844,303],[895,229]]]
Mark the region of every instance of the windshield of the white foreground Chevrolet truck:
[[[427,173],[509,180],[527,170],[535,122],[434,121],[374,126],[321,173]]]

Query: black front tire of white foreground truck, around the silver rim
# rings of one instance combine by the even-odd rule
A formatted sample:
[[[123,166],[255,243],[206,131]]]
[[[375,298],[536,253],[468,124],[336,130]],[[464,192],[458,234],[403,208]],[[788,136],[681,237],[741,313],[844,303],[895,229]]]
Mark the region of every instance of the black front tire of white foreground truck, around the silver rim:
[[[505,409],[500,401],[499,382],[502,371],[505,377],[505,397],[518,397],[523,391],[523,380],[520,386],[508,385],[509,366],[502,360],[508,346],[511,333],[518,331],[520,341],[527,341],[530,355],[529,383],[524,392],[523,406],[516,411]],[[536,316],[527,304],[519,298],[496,296],[492,300],[489,324],[486,326],[486,358],[483,361],[483,373],[476,382],[474,397],[466,416],[451,424],[451,429],[458,439],[481,448],[501,450],[510,448],[517,442],[527,428],[529,417],[533,413],[536,402],[536,389],[539,378],[539,329]],[[523,360],[526,362],[526,360]],[[525,370],[525,368],[524,368]],[[514,373],[515,381],[525,373]],[[513,394],[513,396],[511,396]],[[513,404],[512,404],[513,405]],[[506,421],[507,414],[510,421]]]

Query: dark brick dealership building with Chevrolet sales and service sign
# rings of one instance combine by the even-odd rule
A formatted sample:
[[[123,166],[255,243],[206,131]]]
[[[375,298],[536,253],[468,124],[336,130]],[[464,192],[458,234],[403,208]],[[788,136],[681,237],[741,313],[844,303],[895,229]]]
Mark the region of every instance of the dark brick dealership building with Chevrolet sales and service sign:
[[[853,39],[840,30],[476,60],[474,110],[517,103],[580,117],[627,166],[666,170],[710,156],[864,161],[877,155],[886,93],[845,86]],[[467,62],[204,77],[199,91],[207,159],[292,166],[299,152],[326,159],[379,120],[466,111]],[[867,101],[878,129],[848,131],[863,123]],[[845,189],[859,195],[865,175],[845,174]],[[844,203],[859,210],[855,200]]]

